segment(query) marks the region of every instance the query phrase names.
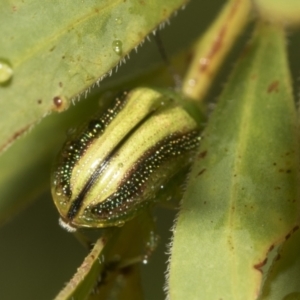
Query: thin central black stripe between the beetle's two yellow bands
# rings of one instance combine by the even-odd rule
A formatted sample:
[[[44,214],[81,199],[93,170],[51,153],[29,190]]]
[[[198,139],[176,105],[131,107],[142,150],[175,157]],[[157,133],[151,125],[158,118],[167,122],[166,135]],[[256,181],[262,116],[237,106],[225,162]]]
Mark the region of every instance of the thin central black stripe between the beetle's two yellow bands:
[[[106,166],[109,164],[112,157],[124,145],[124,143],[129,138],[129,136],[132,135],[133,132],[136,131],[143,123],[145,123],[153,115],[155,111],[156,109],[153,109],[143,119],[141,119],[128,133],[126,133],[126,135],[120,140],[120,142],[116,145],[116,147],[103,159],[102,163],[97,167],[97,169],[91,175],[91,177],[86,182],[83,189],[80,191],[79,195],[72,202],[67,214],[67,218],[69,220],[72,220],[76,216],[76,214],[78,213],[79,209],[82,206],[86,194],[88,193],[90,188],[94,185],[95,181],[99,178],[99,176],[103,173],[103,171],[105,170]]]

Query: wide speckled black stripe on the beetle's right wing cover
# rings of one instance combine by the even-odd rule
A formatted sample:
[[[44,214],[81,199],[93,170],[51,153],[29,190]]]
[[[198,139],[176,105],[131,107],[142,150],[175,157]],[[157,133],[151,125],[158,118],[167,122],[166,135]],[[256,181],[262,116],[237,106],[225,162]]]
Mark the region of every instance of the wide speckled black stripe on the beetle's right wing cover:
[[[94,205],[91,213],[102,220],[118,219],[132,213],[139,205],[143,205],[137,199],[143,194],[149,178],[155,172],[159,172],[159,167],[169,159],[192,153],[199,145],[199,141],[198,130],[187,133],[176,132],[159,141],[146,151],[127,173],[126,179],[119,185],[116,192],[101,203]],[[189,158],[190,156],[186,156],[186,162]],[[183,164],[181,168],[184,167],[186,165]]]

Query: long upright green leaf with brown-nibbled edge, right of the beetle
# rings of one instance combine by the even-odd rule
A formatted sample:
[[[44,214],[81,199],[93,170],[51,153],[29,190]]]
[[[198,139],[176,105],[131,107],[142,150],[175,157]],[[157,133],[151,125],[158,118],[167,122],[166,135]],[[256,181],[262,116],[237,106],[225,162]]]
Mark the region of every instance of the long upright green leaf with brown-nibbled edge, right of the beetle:
[[[256,299],[269,252],[298,222],[285,44],[280,27],[259,24],[204,131],[174,230],[172,300]]]

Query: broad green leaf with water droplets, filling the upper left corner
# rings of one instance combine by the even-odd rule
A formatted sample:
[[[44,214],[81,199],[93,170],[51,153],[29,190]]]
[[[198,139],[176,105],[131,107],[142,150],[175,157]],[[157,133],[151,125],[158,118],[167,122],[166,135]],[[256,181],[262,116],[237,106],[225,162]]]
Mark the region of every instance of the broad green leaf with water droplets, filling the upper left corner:
[[[4,1],[0,152],[51,111],[66,109],[184,2]]]

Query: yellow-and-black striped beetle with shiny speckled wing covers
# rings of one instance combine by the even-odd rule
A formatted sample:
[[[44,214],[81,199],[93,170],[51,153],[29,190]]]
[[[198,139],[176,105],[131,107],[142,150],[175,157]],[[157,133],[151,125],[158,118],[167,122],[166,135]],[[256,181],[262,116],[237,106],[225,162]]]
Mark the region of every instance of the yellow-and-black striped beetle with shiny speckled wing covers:
[[[122,226],[186,170],[200,141],[195,108],[171,91],[124,92],[69,135],[52,171],[60,225]]]

